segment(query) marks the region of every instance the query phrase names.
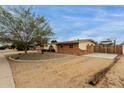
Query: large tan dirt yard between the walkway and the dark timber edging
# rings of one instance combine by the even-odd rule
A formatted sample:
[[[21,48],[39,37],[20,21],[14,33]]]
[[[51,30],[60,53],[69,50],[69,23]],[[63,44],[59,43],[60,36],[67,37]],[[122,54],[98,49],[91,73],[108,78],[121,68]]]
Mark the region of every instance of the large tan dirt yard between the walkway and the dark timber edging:
[[[67,55],[66,55],[67,56]],[[16,87],[92,87],[89,79],[112,60],[67,56],[48,62],[9,61]]]

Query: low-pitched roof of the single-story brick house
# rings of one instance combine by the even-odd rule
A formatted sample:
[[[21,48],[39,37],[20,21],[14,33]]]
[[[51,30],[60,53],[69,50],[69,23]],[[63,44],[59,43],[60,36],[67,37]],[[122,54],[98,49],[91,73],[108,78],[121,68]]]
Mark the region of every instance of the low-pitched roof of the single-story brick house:
[[[58,42],[57,44],[73,44],[73,43],[88,42],[88,41],[93,42],[93,43],[96,43],[92,39],[80,39],[80,40],[73,40],[73,41]]]

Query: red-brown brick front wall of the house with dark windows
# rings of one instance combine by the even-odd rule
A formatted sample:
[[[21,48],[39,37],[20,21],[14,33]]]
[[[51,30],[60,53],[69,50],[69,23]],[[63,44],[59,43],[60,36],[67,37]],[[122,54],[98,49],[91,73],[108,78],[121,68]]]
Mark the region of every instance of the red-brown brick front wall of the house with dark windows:
[[[58,44],[57,49],[58,49],[58,53],[65,53],[65,54],[82,55],[88,53],[88,50],[79,49],[79,43]]]

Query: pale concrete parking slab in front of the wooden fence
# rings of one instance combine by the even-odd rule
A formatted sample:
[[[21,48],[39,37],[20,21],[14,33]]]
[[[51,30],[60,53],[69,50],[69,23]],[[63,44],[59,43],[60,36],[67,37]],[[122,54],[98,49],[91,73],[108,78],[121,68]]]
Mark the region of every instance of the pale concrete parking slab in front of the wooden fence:
[[[107,59],[114,59],[118,56],[118,54],[108,54],[108,53],[91,53],[84,55],[87,57],[97,57],[97,58],[107,58]]]

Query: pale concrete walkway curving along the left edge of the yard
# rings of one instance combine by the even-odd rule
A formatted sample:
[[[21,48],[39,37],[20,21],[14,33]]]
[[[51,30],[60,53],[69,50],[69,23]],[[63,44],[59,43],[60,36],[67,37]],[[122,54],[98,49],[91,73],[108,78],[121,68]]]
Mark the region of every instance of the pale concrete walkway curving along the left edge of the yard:
[[[0,88],[14,88],[14,80],[8,61],[0,53]]]

